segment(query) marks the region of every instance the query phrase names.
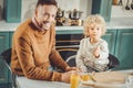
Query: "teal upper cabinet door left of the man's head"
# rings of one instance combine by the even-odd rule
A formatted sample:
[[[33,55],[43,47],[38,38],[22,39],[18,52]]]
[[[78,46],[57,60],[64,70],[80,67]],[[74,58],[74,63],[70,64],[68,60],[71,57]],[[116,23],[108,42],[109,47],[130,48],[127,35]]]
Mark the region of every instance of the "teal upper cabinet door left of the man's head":
[[[4,0],[4,12],[7,22],[20,22],[21,0]]]

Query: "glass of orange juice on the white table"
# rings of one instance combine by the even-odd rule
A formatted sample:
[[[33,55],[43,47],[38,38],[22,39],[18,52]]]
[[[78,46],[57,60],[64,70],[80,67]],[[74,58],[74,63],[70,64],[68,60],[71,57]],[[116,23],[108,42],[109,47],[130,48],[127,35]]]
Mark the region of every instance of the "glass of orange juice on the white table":
[[[71,88],[79,88],[80,85],[80,75],[71,75]]]

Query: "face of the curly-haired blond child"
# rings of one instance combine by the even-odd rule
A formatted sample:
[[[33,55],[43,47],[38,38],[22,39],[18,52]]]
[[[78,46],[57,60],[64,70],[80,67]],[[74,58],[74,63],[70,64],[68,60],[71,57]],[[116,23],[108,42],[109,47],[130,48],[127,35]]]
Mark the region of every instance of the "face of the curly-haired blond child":
[[[91,38],[100,38],[102,35],[102,28],[100,24],[96,23],[92,23],[89,28],[88,28],[88,33],[89,36]]]

